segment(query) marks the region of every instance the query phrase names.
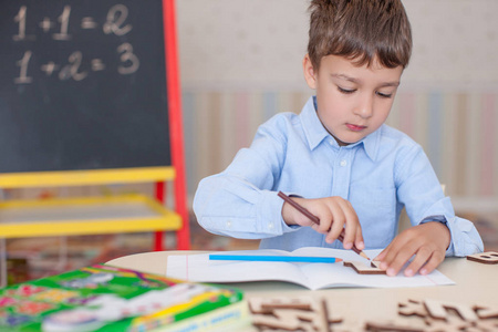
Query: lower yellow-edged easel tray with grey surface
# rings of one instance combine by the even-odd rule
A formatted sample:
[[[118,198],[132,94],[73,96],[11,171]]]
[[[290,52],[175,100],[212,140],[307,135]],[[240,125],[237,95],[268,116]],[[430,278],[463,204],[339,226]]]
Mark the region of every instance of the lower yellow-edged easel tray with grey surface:
[[[178,230],[181,218],[145,195],[0,203],[0,237]]]

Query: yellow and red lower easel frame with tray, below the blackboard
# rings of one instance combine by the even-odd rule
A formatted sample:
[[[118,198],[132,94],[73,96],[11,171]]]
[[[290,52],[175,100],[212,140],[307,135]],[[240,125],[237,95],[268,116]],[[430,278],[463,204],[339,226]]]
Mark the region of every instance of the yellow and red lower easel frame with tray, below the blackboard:
[[[138,181],[156,184],[155,197],[133,194],[0,203],[1,286],[7,284],[6,239],[154,231],[156,232],[154,250],[164,250],[163,231],[175,231],[177,248],[188,249],[188,219],[181,216],[186,208],[181,209],[179,206],[181,200],[178,203],[176,197],[174,209],[167,208],[164,203],[165,181],[175,184],[175,179],[176,172],[173,167],[0,175],[0,186],[3,188],[55,184],[65,186]],[[183,190],[181,186],[179,187],[179,190]]]

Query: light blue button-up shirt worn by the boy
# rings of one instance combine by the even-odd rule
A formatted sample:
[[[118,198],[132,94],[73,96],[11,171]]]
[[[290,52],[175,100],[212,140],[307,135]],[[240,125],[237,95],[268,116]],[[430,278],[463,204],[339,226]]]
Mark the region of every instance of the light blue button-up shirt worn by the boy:
[[[283,200],[341,196],[360,219],[366,249],[385,248],[397,235],[406,207],[412,225],[446,224],[452,243],[446,256],[483,251],[473,222],[455,216],[452,203],[423,148],[387,125],[362,141],[339,146],[321,124],[310,97],[301,114],[280,113],[262,124],[249,148],[226,170],[199,183],[194,210],[206,230],[241,239],[261,239],[260,248],[342,249],[311,227],[288,226]]]

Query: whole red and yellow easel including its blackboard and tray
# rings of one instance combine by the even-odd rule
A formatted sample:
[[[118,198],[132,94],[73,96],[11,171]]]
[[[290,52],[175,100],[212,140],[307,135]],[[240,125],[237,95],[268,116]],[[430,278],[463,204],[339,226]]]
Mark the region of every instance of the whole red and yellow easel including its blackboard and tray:
[[[0,142],[0,188],[156,184],[155,197],[0,203],[2,269],[9,238],[153,231],[163,250],[175,231],[189,249],[175,0],[11,1],[1,14],[0,124],[15,144]]]

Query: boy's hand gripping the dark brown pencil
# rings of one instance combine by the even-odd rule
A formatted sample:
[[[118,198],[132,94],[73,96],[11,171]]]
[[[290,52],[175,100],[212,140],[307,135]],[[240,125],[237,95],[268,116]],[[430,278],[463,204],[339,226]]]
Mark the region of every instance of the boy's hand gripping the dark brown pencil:
[[[320,219],[320,225],[311,221],[307,216],[298,211],[290,204],[284,203],[282,217],[287,225],[311,226],[314,230],[325,234],[325,241],[332,243],[345,226],[344,249],[353,248],[363,250],[362,228],[351,203],[342,197],[325,197],[318,199],[305,199],[292,197],[292,199]]]

